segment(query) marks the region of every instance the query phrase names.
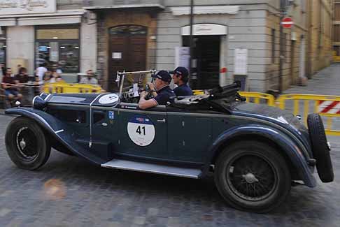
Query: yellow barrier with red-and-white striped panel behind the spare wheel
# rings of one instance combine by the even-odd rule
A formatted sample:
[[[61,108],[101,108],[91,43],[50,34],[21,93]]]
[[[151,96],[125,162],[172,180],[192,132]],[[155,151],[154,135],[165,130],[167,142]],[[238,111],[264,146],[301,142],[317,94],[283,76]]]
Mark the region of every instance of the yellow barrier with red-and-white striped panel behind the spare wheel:
[[[286,109],[286,101],[293,101],[292,111],[294,115],[299,115],[300,104],[303,103],[304,124],[307,121],[307,115],[311,112],[317,112],[327,118],[325,131],[330,136],[340,136],[340,131],[332,129],[332,120],[334,117],[340,117],[340,110],[335,108],[340,105],[340,96],[321,96],[312,94],[285,94],[278,98],[278,108]]]

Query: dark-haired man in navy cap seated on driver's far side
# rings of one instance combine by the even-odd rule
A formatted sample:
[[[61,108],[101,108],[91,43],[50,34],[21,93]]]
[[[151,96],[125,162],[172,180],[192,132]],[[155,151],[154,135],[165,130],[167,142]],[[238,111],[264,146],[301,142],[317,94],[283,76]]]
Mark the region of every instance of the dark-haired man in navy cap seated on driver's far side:
[[[184,67],[177,67],[174,71],[170,72],[173,74],[173,82],[178,85],[173,92],[176,96],[192,96],[192,89],[187,86],[187,81],[189,80],[189,72]]]

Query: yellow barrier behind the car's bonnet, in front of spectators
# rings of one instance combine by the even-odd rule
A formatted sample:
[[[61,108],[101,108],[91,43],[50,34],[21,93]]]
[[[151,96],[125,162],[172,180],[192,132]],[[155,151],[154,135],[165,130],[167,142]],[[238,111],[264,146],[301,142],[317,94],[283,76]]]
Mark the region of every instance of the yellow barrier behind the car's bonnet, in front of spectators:
[[[101,93],[99,85],[68,84],[66,82],[47,83],[43,86],[45,93]]]

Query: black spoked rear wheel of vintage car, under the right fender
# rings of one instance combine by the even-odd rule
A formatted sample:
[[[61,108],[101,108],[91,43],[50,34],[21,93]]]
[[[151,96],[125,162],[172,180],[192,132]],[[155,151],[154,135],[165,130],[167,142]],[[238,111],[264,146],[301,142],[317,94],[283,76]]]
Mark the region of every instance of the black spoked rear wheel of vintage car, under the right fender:
[[[285,159],[274,147],[249,140],[227,147],[218,156],[215,184],[236,209],[262,213],[285,200],[291,177]]]

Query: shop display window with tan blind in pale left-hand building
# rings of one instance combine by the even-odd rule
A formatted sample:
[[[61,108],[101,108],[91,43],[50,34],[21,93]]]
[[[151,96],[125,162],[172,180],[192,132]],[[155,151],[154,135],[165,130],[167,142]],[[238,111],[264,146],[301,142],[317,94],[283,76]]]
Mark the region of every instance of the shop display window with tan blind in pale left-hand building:
[[[36,68],[59,68],[63,73],[78,73],[80,59],[78,28],[36,29]]]

